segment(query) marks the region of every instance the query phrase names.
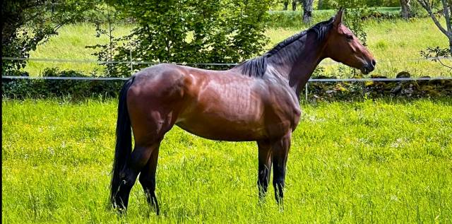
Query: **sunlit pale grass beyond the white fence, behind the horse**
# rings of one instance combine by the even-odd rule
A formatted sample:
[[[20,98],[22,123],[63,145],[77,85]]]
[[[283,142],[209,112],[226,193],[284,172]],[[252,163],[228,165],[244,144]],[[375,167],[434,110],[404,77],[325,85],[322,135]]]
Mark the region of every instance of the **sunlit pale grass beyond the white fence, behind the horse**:
[[[383,20],[382,22],[369,20],[365,22],[365,27],[369,49],[379,61],[374,74],[394,77],[400,71],[408,71],[412,76],[451,76],[451,71],[437,62],[412,60],[420,58],[419,51],[429,46],[447,46],[446,37],[430,18],[410,21]],[[267,48],[270,49],[278,42],[305,28],[269,28],[266,31],[266,35],[270,38]],[[129,26],[117,25],[114,27],[114,34],[125,35],[130,30]],[[95,60],[96,58],[91,55],[93,49],[86,49],[85,46],[105,42],[107,42],[106,37],[95,37],[95,29],[91,25],[67,25],[59,30],[59,35],[50,38],[49,42],[37,47],[35,52],[31,52],[30,57]],[[331,61],[325,62],[328,64]],[[324,65],[326,75],[347,76],[345,73],[338,73],[338,66],[343,65]],[[25,71],[32,76],[38,76],[47,67],[73,69],[85,73],[96,72],[102,68],[95,63],[30,61]]]

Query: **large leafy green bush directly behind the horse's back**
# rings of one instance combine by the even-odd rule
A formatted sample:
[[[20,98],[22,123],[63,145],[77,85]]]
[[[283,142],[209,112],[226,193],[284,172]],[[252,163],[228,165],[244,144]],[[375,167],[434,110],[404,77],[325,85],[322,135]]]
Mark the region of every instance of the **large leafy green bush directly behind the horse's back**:
[[[268,1],[110,1],[136,28],[115,38],[114,61],[234,63],[266,46]],[[109,46],[96,45],[98,59],[109,59]],[[134,65],[138,70],[146,65]],[[216,69],[221,69],[215,67]],[[128,76],[129,64],[114,64],[110,76]]]

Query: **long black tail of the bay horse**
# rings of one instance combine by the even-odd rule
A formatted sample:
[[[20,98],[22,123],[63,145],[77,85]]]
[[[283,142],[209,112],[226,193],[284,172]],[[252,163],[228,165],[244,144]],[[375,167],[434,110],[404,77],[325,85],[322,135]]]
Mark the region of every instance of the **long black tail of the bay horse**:
[[[129,159],[132,152],[132,134],[129,112],[127,111],[127,90],[133,83],[132,76],[124,86],[122,86],[119,93],[118,102],[118,119],[116,124],[116,148],[114,150],[114,163],[112,171],[112,182],[110,183],[110,201],[115,203],[114,195],[117,194],[121,178],[119,173],[124,169],[126,161]]]

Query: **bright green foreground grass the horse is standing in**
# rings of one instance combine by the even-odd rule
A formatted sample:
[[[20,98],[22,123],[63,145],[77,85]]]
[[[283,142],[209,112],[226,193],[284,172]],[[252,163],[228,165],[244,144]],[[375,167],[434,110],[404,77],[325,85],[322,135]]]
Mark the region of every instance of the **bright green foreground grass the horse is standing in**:
[[[257,204],[256,143],[169,131],[162,216],[107,210],[115,100],[2,100],[2,223],[451,223],[452,101],[303,104],[285,209]]]

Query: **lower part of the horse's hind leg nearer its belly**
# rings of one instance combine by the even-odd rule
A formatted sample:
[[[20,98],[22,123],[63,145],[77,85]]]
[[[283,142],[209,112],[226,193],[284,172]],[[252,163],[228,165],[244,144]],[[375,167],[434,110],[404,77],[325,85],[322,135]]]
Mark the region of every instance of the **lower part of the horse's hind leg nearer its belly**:
[[[143,186],[143,190],[148,200],[148,204],[155,210],[157,216],[160,215],[160,208],[157,202],[157,196],[155,196],[155,172],[157,170],[158,151],[160,143],[156,144],[153,148],[153,152],[150,155],[148,163],[143,167],[140,173],[140,183]]]

